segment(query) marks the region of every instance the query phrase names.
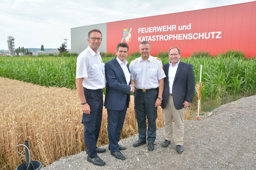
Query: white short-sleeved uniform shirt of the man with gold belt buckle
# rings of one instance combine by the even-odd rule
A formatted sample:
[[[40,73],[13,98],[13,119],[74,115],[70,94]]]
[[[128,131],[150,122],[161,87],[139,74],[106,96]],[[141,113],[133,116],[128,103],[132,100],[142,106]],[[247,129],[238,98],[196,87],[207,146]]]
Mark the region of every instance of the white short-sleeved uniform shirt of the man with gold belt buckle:
[[[152,56],[149,56],[146,61],[143,61],[142,57],[132,60],[130,71],[138,89],[158,88],[158,80],[166,77],[162,61]]]

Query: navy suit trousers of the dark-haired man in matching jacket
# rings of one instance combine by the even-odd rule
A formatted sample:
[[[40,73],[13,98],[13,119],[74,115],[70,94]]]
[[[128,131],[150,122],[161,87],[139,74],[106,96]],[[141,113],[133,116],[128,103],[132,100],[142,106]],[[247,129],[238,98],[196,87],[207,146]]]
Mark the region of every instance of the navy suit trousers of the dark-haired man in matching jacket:
[[[108,141],[112,152],[119,150],[118,142],[120,141],[121,131],[124,125],[124,119],[127,111],[127,106],[123,110],[108,111]]]

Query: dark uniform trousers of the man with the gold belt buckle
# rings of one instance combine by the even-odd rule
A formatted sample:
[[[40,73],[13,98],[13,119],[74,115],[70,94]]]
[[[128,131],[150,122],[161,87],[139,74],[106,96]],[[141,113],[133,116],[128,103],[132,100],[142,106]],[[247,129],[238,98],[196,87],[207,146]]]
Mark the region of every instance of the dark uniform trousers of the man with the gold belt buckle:
[[[134,108],[135,117],[138,122],[139,141],[154,143],[156,140],[156,118],[157,107],[155,102],[158,96],[158,90],[148,92],[141,92],[135,90],[134,92]],[[146,138],[146,118],[148,119],[148,137]]]

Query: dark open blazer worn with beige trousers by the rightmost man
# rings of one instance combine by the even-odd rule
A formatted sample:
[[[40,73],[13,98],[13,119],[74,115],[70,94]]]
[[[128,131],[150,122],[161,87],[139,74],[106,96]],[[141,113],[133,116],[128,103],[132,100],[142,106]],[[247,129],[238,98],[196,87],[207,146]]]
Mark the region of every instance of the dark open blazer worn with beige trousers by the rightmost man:
[[[170,64],[164,64],[164,73],[166,77],[164,78],[164,92],[162,100],[162,108],[167,106],[169,99],[169,66]],[[182,109],[184,106],[184,101],[192,103],[195,91],[195,76],[193,66],[188,63],[183,63],[180,61],[177,68],[177,72],[174,77],[174,82],[172,85],[172,98],[174,106],[177,110]]]

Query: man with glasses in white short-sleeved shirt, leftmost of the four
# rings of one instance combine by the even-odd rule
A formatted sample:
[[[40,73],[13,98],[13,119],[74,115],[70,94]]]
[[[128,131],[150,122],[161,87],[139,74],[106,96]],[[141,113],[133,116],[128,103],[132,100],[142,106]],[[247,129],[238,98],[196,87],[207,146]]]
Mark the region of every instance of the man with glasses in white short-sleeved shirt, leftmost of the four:
[[[106,86],[104,63],[98,48],[102,42],[102,33],[92,29],[88,33],[89,45],[77,57],[76,89],[83,111],[84,143],[86,145],[87,160],[94,165],[106,164],[97,153],[105,152],[104,148],[97,148],[103,109],[103,89]]]

